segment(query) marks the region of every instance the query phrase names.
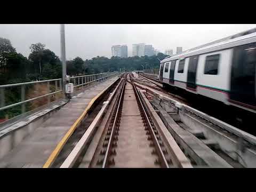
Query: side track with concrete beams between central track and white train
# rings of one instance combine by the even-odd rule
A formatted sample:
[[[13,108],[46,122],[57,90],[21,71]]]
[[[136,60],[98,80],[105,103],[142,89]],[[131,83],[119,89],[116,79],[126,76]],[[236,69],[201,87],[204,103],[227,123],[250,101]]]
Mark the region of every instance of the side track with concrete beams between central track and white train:
[[[189,103],[171,98],[144,81],[136,82],[138,87],[145,85],[141,88],[153,98],[151,105],[194,167],[256,166],[253,135],[191,108]]]

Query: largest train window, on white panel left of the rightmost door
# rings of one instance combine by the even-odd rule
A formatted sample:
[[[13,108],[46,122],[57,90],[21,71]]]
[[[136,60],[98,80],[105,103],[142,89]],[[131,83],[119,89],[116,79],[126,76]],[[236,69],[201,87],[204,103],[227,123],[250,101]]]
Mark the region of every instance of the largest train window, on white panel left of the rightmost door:
[[[217,75],[220,54],[208,55],[205,59],[204,74]]]

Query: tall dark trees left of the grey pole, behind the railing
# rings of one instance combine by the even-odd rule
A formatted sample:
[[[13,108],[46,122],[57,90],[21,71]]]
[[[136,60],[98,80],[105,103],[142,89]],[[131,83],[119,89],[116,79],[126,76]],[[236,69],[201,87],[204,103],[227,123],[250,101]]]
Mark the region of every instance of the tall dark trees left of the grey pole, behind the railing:
[[[17,53],[9,39],[0,37],[0,84],[61,77],[57,55],[41,43],[31,44],[29,57]]]

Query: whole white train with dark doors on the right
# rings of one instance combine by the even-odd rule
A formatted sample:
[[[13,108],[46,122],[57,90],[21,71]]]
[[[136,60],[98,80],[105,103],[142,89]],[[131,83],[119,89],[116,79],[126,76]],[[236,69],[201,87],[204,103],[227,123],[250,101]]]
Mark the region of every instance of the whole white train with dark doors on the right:
[[[163,84],[256,113],[256,28],[161,61]]]

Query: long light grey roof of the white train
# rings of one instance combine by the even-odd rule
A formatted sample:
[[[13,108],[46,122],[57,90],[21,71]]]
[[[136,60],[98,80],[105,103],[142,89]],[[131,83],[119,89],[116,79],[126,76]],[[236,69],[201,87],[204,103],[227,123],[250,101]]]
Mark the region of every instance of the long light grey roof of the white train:
[[[244,44],[253,43],[253,42],[256,42],[256,28],[243,31],[242,33],[238,33],[222,39],[218,39],[217,41],[214,41],[211,43],[194,47],[193,49],[183,51],[182,53],[177,55],[166,57],[161,61],[161,63],[180,59],[180,58],[186,58],[186,57],[190,57],[197,54],[204,54],[208,52],[228,49],[230,47],[244,45]]]

